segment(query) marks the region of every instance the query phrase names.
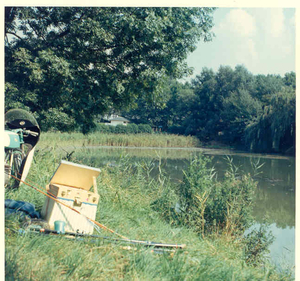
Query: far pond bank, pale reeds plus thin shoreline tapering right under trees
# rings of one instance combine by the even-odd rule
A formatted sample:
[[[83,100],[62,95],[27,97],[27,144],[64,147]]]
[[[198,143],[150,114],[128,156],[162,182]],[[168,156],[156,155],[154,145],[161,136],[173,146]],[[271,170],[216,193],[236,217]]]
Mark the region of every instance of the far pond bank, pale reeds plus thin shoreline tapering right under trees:
[[[90,133],[60,133],[46,132],[41,134],[38,149],[57,147],[67,153],[71,153],[78,148],[113,148],[113,149],[130,149],[136,150],[140,156],[144,150],[158,151],[160,157],[170,157],[168,150],[177,150],[176,157],[189,158],[187,154],[193,151],[202,152],[208,155],[241,155],[247,157],[288,159],[289,155],[269,154],[269,153],[250,153],[247,151],[237,150],[228,145],[217,142],[201,143],[196,137],[181,136],[171,134],[103,134]]]

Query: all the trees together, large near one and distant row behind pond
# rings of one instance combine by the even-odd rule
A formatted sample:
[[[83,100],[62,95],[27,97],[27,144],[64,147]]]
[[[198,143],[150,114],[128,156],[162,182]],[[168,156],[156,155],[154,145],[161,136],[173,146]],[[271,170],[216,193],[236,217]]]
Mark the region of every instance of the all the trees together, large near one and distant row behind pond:
[[[214,8],[5,7],[5,110],[43,131],[96,128],[119,112],[136,124],[251,151],[295,145],[295,73],[204,68],[187,55],[212,40]]]

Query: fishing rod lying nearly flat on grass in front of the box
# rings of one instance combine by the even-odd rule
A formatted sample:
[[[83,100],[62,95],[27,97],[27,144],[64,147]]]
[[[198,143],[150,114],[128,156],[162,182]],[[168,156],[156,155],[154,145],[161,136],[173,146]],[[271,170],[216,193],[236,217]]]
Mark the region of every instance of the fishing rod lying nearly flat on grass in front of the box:
[[[33,231],[34,233],[50,234],[50,235],[63,235],[66,237],[71,236],[74,238],[102,239],[102,240],[109,240],[110,242],[129,243],[129,244],[141,245],[141,246],[153,247],[153,248],[184,249],[186,247],[185,244],[168,244],[168,243],[158,243],[158,242],[132,240],[132,239],[115,239],[115,238],[111,238],[111,237],[107,237],[107,236],[82,234],[82,233],[74,233],[74,232],[65,232],[64,234],[61,234],[59,231],[52,230],[52,229],[40,228],[40,227],[30,227],[29,230]]]

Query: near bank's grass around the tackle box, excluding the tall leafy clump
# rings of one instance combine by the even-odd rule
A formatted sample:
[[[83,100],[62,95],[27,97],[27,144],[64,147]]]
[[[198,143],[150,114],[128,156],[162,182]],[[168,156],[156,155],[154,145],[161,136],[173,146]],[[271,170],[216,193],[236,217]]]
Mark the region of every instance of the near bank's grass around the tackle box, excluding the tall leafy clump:
[[[38,151],[27,181],[45,187],[60,160],[55,149]],[[72,161],[91,164],[87,158]],[[174,186],[163,174],[149,177],[147,163],[132,165],[124,158],[116,167],[103,168],[97,184],[97,221],[131,239],[186,244],[186,249],[156,254],[105,240],[94,244],[19,235],[22,224],[10,217],[5,228],[6,280],[291,280],[267,263],[247,264],[243,242],[232,233],[199,235],[191,226],[166,220],[153,205],[166,195],[175,197]],[[45,199],[26,185],[5,196],[34,203],[37,210]],[[111,236],[105,231],[100,235]]]

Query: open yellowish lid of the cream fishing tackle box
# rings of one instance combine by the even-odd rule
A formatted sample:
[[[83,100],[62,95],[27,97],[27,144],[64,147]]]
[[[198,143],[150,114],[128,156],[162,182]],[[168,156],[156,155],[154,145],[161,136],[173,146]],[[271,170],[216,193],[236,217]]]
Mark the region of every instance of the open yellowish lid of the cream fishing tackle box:
[[[93,177],[98,177],[99,174],[100,169],[61,160],[50,183],[90,190]]]

